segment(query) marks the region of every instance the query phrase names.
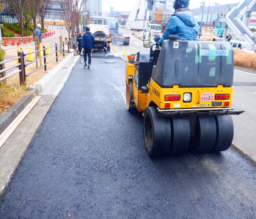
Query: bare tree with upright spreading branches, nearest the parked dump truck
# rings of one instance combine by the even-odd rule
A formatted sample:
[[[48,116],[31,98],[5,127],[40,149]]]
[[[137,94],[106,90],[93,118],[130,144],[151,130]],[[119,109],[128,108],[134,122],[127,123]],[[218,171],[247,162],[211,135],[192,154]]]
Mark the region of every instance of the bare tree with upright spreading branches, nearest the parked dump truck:
[[[62,19],[65,22],[69,38],[74,37],[75,25],[79,23],[79,17],[82,13],[82,7],[87,0],[58,0],[63,11]]]

